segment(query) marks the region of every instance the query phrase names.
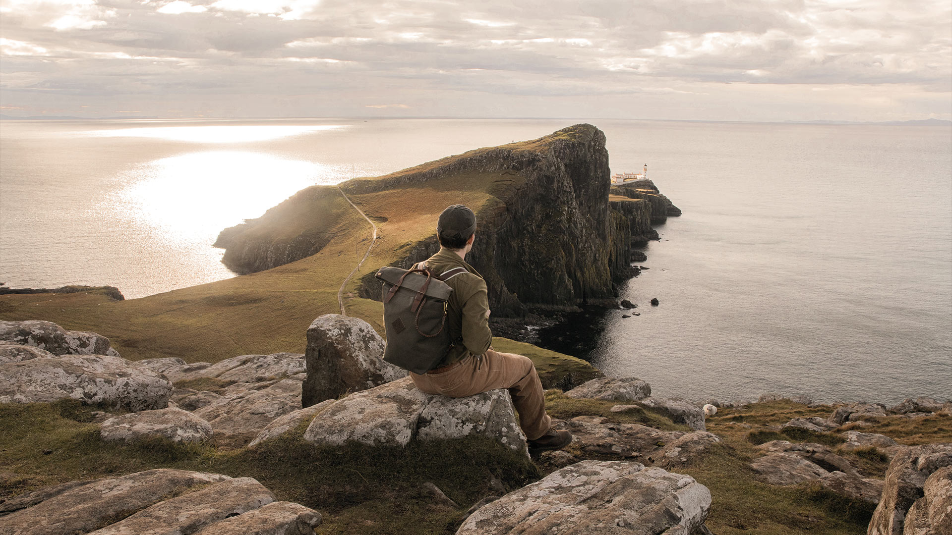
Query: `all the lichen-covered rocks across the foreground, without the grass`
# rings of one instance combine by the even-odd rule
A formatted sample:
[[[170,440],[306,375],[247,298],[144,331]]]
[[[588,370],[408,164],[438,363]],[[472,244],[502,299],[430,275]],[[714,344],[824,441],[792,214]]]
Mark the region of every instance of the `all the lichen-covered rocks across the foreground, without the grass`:
[[[373,328],[335,314],[312,323],[305,354],[191,364],[178,358],[131,362],[95,333],[48,322],[0,322],[0,404],[91,404],[99,410],[89,412],[96,432],[88,440],[137,454],[206,447],[215,455],[281,455],[298,444],[293,441],[324,455],[352,447],[384,454],[482,440],[498,455],[532,466],[506,390],[462,399],[427,395],[382,355],[383,341]],[[598,378],[564,394],[550,392],[555,425],[575,435],[566,450],[536,460],[550,473],[518,488],[493,479],[489,488],[495,490],[466,511],[437,485],[427,483],[420,492],[426,503],[443,507],[439,514],[453,519],[448,525],[460,534],[703,534],[711,532],[708,520],[716,516],[718,500],[729,509],[724,500],[743,497],[718,496],[687,472],[709,465],[708,458],[727,459],[743,466],[737,478],[777,488],[776,500],[786,489],[838,497],[851,514],[866,515],[869,534],[952,533],[952,444],[907,446],[874,432],[884,422],[947,426],[952,404],[921,398],[888,408],[823,406],[766,397],[764,406],[789,409],[774,417],[803,416],[754,426],[746,413],[709,402],[708,413],[721,406],[722,416],[705,416],[703,404],[652,397],[637,378]],[[735,449],[738,435],[752,454]],[[463,464],[458,459],[447,469]],[[353,470],[353,477],[364,478]],[[2,472],[0,481],[21,476]],[[14,486],[0,497],[4,535],[312,533],[324,528],[322,519],[334,522],[318,504],[281,500],[257,479],[200,470],[145,469]],[[388,507],[401,499],[388,498]],[[760,505],[772,505],[767,500]],[[718,525],[747,530],[737,524]],[[349,525],[347,532],[406,532],[373,529]]]

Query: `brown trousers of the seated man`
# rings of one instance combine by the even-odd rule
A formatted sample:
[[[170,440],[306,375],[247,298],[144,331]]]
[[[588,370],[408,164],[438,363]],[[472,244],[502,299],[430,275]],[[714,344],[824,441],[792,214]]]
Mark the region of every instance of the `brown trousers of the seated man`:
[[[507,388],[519,411],[519,426],[528,440],[536,440],[548,430],[545,392],[539,374],[528,357],[488,349],[482,357],[468,356],[441,373],[418,375],[410,372],[413,384],[427,394],[451,398],[473,396],[487,390]]]

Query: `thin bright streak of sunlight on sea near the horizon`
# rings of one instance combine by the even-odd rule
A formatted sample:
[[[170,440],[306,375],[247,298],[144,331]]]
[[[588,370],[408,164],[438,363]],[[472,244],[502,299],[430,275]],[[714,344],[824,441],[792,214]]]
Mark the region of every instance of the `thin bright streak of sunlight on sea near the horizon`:
[[[346,127],[344,125],[209,125],[89,130],[84,133],[98,137],[150,137],[188,143],[251,143],[343,128]]]

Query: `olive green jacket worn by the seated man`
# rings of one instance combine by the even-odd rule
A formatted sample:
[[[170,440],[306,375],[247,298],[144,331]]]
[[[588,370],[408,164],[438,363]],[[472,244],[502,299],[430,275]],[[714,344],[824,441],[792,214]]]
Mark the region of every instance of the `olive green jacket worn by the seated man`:
[[[441,366],[455,363],[464,357],[482,355],[492,344],[492,331],[489,330],[489,294],[486,281],[476,269],[464,262],[460,255],[450,249],[440,251],[426,260],[426,267],[439,275],[452,268],[466,268],[467,273],[450,277],[446,284],[453,288],[446,303],[446,328],[450,347]]]

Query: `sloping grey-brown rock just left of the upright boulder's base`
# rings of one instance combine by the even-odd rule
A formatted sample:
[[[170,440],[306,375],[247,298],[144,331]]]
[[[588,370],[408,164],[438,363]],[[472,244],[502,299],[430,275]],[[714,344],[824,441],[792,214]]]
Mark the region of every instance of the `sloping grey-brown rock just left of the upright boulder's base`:
[[[245,446],[274,419],[301,408],[300,392],[300,381],[283,379],[260,390],[228,393],[196,409],[195,415],[208,421],[216,443]]]

